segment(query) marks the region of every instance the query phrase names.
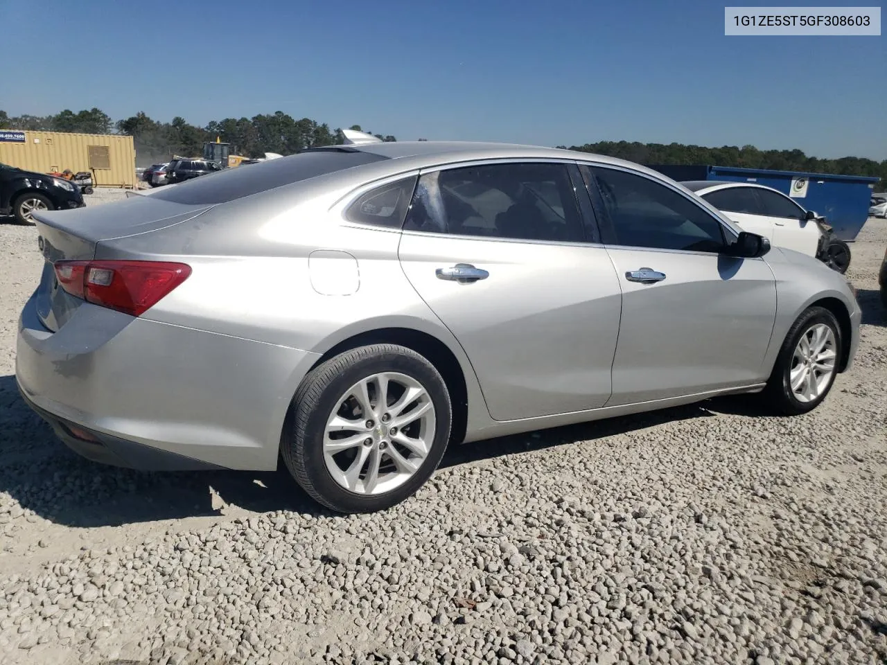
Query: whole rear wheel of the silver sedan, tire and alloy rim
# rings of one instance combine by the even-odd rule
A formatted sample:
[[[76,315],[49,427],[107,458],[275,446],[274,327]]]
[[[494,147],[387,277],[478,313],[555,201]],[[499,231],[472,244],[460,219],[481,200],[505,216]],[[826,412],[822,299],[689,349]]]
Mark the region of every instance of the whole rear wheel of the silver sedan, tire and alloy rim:
[[[450,395],[410,348],[354,348],[309,372],[294,397],[284,463],[318,503],[374,512],[419,489],[450,438]]]

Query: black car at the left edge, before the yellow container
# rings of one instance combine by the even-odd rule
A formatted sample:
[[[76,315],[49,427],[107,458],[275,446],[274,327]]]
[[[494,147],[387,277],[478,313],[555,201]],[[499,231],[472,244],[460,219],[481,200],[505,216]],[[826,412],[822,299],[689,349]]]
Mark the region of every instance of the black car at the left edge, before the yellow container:
[[[80,187],[64,178],[0,164],[0,217],[12,214],[20,224],[33,224],[36,211],[85,205]]]

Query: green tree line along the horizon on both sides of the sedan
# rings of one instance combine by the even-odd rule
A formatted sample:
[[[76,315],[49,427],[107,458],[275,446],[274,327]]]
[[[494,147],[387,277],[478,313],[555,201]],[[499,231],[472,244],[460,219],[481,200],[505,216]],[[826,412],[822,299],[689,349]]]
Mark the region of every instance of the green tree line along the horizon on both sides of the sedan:
[[[216,137],[231,144],[232,154],[262,157],[264,153],[292,154],[302,148],[341,143],[340,130],[330,129],[326,122],[310,118],[296,120],[288,113],[260,113],[252,118],[224,118],[198,127],[177,116],[169,122],[153,120],[145,113],[113,121],[98,108],[77,113],[65,109],[55,115],[9,116],[0,111],[0,129],[70,131],[87,134],[125,134],[133,137],[140,166],[153,161],[169,160],[174,154],[199,155],[204,141]],[[364,131],[359,125],[349,129]],[[373,133],[373,132],[370,132]],[[391,135],[374,134],[384,141],[395,141]],[[566,147],[559,145],[558,147]],[[725,167],[773,168],[787,171],[835,173],[844,176],[877,176],[879,191],[887,184],[887,160],[880,162],[863,157],[842,157],[836,160],[808,157],[800,150],[759,150],[754,145],[723,145],[719,148],[679,143],[657,144],[637,141],[600,141],[571,145],[571,150],[599,153],[631,160],[640,164],[713,164]]]

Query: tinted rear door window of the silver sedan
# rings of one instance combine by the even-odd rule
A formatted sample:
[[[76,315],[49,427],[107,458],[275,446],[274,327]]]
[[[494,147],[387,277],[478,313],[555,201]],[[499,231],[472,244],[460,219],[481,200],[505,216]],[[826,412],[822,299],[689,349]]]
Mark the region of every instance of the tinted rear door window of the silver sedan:
[[[508,163],[423,174],[405,231],[581,242],[576,192],[563,164]]]

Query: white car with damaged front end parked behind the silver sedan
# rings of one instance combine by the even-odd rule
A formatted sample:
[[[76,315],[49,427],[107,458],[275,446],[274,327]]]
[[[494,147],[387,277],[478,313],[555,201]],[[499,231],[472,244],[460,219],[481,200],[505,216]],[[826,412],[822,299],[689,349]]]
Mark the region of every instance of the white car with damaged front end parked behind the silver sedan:
[[[818,258],[840,273],[850,267],[850,246],[835,237],[825,218],[799,206],[779,190],[763,184],[717,180],[681,184],[746,231],[764,236],[773,245]]]

